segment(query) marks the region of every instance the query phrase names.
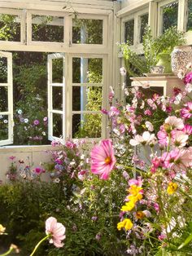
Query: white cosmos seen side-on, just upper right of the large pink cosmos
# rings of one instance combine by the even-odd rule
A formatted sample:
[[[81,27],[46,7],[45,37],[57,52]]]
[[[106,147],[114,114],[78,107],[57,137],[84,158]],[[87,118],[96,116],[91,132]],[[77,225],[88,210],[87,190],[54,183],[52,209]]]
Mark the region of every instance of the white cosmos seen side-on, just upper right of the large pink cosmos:
[[[146,145],[155,142],[155,134],[152,134],[149,131],[144,131],[141,135],[136,135],[134,139],[130,139],[129,143],[132,146],[137,146],[138,144]]]

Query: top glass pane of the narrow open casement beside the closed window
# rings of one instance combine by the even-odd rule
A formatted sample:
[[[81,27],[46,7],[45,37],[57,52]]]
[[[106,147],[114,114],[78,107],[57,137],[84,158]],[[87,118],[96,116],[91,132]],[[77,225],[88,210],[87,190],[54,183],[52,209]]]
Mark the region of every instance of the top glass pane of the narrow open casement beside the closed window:
[[[52,60],[52,82],[63,83],[63,58]]]

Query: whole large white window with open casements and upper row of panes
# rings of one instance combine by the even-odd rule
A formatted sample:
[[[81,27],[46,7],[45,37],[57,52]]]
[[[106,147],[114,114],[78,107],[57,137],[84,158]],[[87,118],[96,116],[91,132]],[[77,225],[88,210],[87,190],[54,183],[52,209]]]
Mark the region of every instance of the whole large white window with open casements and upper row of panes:
[[[1,17],[0,34],[8,18],[6,36],[11,39],[3,39],[0,49],[11,50],[13,57],[10,53],[0,60],[5,79],[0,81],[0,145],[104,136],[109,15],[75,18],[61,11],[6,9]]]

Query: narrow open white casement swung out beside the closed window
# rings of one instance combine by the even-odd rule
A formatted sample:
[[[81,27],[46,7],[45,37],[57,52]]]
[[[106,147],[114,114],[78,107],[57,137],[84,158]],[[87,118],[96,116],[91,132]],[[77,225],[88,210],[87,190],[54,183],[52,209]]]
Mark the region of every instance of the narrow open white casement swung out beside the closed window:
[[[48,55],[48,139],[65,138],[65,56]]]

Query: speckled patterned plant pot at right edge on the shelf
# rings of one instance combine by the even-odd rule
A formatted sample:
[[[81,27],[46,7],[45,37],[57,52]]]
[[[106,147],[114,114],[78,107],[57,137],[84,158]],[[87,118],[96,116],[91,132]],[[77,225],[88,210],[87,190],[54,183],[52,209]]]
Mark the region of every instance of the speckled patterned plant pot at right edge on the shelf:
[[[192,47],[191,46],[177,46],[172,51],[172,72],[177,73],[182,70],[187,72],[186,65],[192,62]]]

